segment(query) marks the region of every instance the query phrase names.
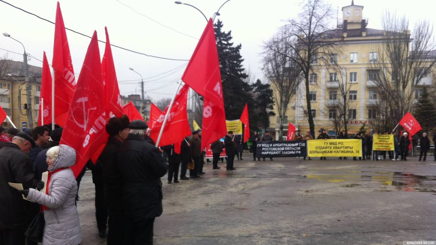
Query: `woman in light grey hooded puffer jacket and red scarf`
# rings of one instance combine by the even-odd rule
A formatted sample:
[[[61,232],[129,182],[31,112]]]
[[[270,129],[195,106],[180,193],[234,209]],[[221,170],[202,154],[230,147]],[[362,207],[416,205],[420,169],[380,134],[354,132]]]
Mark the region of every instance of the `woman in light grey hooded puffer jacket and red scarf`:
[[[44,205],[43,245],[78,245],[82,242],[75,198],[77,182],[71,170],[76,160],[75,150],[61,144],[47,151],[50,180],[48,194],[29,189],[27,199]]]

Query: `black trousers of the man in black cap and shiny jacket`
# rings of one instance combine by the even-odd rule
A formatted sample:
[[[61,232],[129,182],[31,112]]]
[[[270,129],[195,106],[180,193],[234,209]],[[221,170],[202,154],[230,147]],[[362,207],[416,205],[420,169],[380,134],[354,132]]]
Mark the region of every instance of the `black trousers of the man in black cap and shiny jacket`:
[[[129,245],[153,245],[154,218],[126,219],[124,243]]]

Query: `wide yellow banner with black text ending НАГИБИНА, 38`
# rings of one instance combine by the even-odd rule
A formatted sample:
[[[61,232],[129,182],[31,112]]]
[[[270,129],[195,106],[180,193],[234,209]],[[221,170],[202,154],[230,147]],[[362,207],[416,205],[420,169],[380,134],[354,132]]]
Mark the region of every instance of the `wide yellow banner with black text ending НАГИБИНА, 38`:
[[[309,157],[361,157],[362,141],[355,140],[309,140]]]

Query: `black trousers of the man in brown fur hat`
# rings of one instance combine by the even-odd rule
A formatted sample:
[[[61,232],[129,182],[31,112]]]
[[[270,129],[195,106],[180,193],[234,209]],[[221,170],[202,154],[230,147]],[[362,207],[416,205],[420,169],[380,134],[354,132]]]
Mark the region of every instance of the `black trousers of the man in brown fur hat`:
[[[108,245],[125,244],[124,229],[126,227],[126,217],[123,210],[109,211],[108,226]]]

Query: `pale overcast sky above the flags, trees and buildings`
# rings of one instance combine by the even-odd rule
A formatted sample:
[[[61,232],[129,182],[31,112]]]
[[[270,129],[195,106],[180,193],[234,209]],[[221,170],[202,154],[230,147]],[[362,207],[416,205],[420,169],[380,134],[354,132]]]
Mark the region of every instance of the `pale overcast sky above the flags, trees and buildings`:
[[[5,1],[54,21],[56,0]],[[89,36],[97,30],[99,39],[105,40],[104,27],[106,26],[111,44],[161,57],[189,60],[198,42],[196,38],[201,36],[206,24],[206,20],[197,10],[186,5],[177,5],[173,0],[59,0],[59,2],[65,27]],[[184,2],[198,7],[209,17],[225,0],[186,0]],[[328,2],[334,9],[339,7],[340,11],[341,7],[350,5],[351,0]],[[135,13],[122,3],[146,17]],[[299,12],[299,3],[300,1],[297,0],[231,0],[220,10],[219,18],[224,23],[224,30],[232,30],[235,44],[242,44],[241,54],[245,59],[244,67],[250,69],[256,78],[263,79],[262,57],[260,56],[262,43],[283,25],[283,20],[296,16]],[[410,19],[410,29],[419,18],[427,18],[433,22],[436,19],[435,1],[355,0],[354,3],[364,6],[363,15],[369,18],[369,28],[381,28],[380,17],[385,9],[406,14]],[[42,60],[42,52],[45,51],[51,64],[54,24],[2,2],[0,2],[0,10],[0,32],[7,32],[11,37],[20,40],[26,47],[27,53],[40,60]],[[340,12],[339,17],[341,16]],[[335,21],[332,21],[332,27]],[[90,39],[69,30],[67,30],[67,36],[74,70],[76,74],[79,74]],[[3,35],[0,36],[0,48],[20,54],[23,52],[19,43]],[[100,44],[101,56],[103,52],[104,44]],[[144,78],[179,67],[160,76],[145,79],[145,91],[153,100],[171,97],[176,89],[175,82],[181,78],[184,64],[187,63],[187,61],[146,57],[116,47],[112,47],[112,53],[120,91],[123,95],[134,94],[135,91],[136,94],[140,93],[140,77],[129,70],[129,67],[133,67]],[[6,54],[10,59],[22,60],[22,55],[0,50],[0,57]],[[30,60],[29,64],[42,65],[35,59]]]

